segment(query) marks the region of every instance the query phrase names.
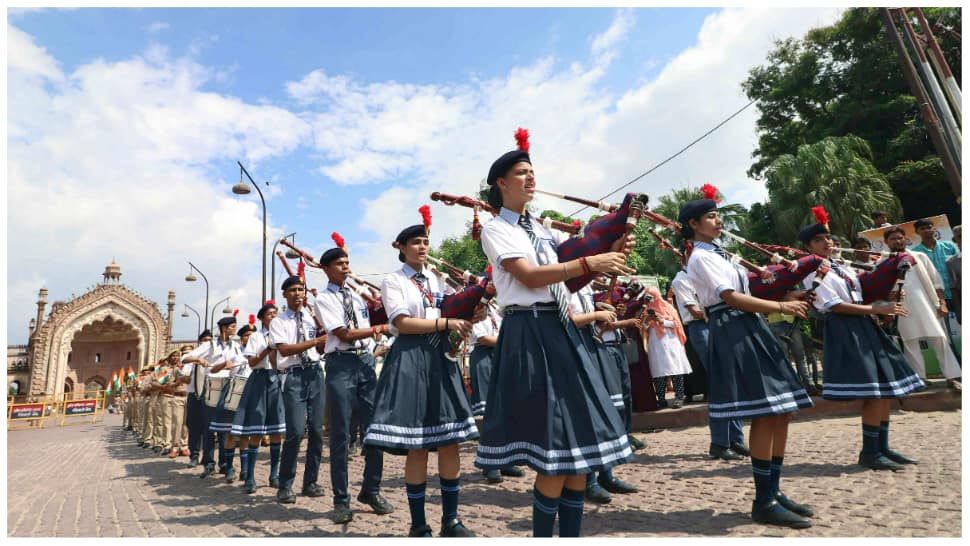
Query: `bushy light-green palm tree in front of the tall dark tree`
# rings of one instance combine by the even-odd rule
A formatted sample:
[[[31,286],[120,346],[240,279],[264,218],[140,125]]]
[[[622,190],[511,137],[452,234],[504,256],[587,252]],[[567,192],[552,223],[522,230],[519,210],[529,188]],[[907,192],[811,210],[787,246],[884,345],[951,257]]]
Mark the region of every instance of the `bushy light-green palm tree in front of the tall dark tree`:
[[[869,144],[855,135],[804,144],[795,155],[773,161],[765,174],[779,239],[794,241],[802,227],[815,222],[811,208],[817,205],[828,212],[832,233],[849,241],[872,227],[873,210],[899,218],[899,198],[871,161]]]

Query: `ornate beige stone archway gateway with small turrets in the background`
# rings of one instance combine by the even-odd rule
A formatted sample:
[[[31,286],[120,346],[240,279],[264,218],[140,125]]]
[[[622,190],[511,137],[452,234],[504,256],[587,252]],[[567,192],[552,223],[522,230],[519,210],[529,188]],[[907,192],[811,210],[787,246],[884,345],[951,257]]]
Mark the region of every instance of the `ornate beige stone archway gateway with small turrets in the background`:
[[[77,393],[92,382],[106,386],[112,372],[119,368],[139,370],[163,356],[171,334],[158,306],[122,285],[121,268],[114,262],[105,269],[104,277],[104,284],[90,292],[55,304],[48,320],[38,328],[31,347],[30,394],[60,397],[68,380]],[[174,300],[174,293],[170,298]],[[170,301],[170,315],[173,305]],[[123,346],[115,348],[123,356],[112,356],[112,360],[108,359],[111,351],[96,349],[119,343]],[[75,345],[95,349],[72,352]],[[84,365],[88,353],[93,354],[94,367]]]

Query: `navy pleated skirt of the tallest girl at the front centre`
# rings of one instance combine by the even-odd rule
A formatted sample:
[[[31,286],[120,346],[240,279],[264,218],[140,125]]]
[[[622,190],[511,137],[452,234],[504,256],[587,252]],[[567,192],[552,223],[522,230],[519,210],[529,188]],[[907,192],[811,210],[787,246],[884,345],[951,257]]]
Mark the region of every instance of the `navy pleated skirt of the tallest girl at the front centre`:
[[[599,364],[555,306],[505,310],[475,466],[577,475],[633,454]]]

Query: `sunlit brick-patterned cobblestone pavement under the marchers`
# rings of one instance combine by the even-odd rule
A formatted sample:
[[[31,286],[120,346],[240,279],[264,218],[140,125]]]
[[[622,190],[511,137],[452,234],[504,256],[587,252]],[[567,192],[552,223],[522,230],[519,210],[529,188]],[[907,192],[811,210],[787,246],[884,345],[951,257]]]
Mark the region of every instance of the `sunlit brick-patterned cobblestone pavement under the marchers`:
[[[259,490],[215,477],[202,481],[187,458],[150,456],[121,418],[103,423],[7,433],[7,534],[12,537],[400,536],[409,517],[403,457],[386,456],[384,494],[397,510],[377,516],[352,501],[354,520],[335,525],[327,497],[275,502],[267,485],[268,449],[261,448]],[[585,536],[960,536],[961,411],[894,413],[894,447],[918,457],[899,473],[855,464],[860,419],[795,421],[782,476],[783,490],[813,506],[814,526],[803,531],[763,527],[749,518],[753,483],[745,463],[706,456],[707,429],[637,434],[647,443],[617,476],[639,493],[614,495],[605,506],[587,503]],[[460,517],[484,536],[531,533],[532,472],[487,484],[472,466],[474,445],[462,449]],[[324,448],[320,485],[330,491]],[[238,466],[238,456],[236,458]],[[351,459],[351,496],[359,491],[363,459]],[[302,483],[303,458],[296,483]],[[430,466],[436,468],[434,455]],[[221,477],[220,477],[221,478]],[[298,492],[298,489],[297,489]],[[441,513],[436,477],[428,483],[428,521]],[[434,525],[433,525],[434,526]],[[436,526],[435,526],[436,527]]]

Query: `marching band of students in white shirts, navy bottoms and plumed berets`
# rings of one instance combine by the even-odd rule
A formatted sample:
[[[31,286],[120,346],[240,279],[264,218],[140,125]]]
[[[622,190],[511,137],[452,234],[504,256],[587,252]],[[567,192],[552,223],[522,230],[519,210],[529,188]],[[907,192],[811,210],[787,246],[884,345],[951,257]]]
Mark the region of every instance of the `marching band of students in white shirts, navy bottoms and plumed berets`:
[[[178,382],[189,391],[201,381],[211,385],[214,379],[249,376],[235,412],[224,403],[229,388],[214,409],[188,396],[190,444],[197,445],[193,430],[204,437],[203,478],[215,472],[215,446],[223,442],[216,433],[222,433],[227,480],[234,478],[238,441],[246,490],[255,491],[256,455],[268,435],[270,484],[278,488],[278,502],[293,503],[297,450],[306,436],[301,493],[323,495],[317,480],[326,397],[332,517],[338,523],[353,517],[347,456],[355,408],[366,431],[357,499],[378,514],[393,512],[381,494],[382,457],[405,456],[410,536],[432,536],[424,508],[429,450],[438,452],[439,534],[474,536],[459,517],[458,445],[466,441],[478,440],[474,464],[490,481],[521,475],[519,466],[536,472],[534,536],[552,536],[557,519],[560,536],[579,536],[591,485],[635,491],[613,475],[614,467],[632,459],[634,448],[622,329],[649,320],[651,343],[662,347],[664,340],[684,343],[684,328],[672,310],[657,308],[660,313],[639,318],[620,313],[617,320],[615,310],[597,309],[588,288],[595,277],[634,273],[625,265],[634,244],[624,229],[630,196],[582,236],[550,230],[527,210],[536,177],[527,140],[523,145],[518,137],[519,149],[498,158],[487,178],[488,202],[498,212],[481,233],[490,278],[457,293],[446,290],[428,267],[431,219],[422,207],[422,223],[402,230],[393,243],[403,265],[383,280],[380,306],[347,282],[349,257],[335,237],[338,246],[319,260],[329,282],[315,297],[308,297],[301,277],[290,277],[282,285],[283,312],[267,302],[257,313],[259,325],[238,332],[235,317],[226,317],[217,336],[200,336],[198,348],[170,355],[172,362],[181,360]],[[691,337],[707,339],[697,352],[710,375],[712,451],[714,445],[745,454],[750,449],[756,522],[806,528],[814,511],[782,492],[780,476],[792,412],[812,401],[761,313],[804,318],[809,305],[827,313],[823,397],[863,399],[859,463],[898,470],[916,461],[889,447],[889,399],[923,383],[867,315],[905,310],[899,303],[863,304],[855,273],[834,262],[834,274],[819,273],[811,290],[790,290],[777,300],[753,296],[747,271],[717,244],[724,226],[710,197],[680,211],[678,222],[692,249],[674,286],[683,305],[706,318],[688,328],[703,329]],[[833,252],[822,219],[799,238],[817,256]],[[805,280],[814,279],[812,273]],[[659,294],[655,299],[661,300]],[[376,377],[373,343],[385,334],[394,343]],[[469,335],[475,340],[471,400],[449,359],[457,340]],[[483,415],[481,429],[476,413]],[[740,435],[742,419],[751,420],[750,448]]]

